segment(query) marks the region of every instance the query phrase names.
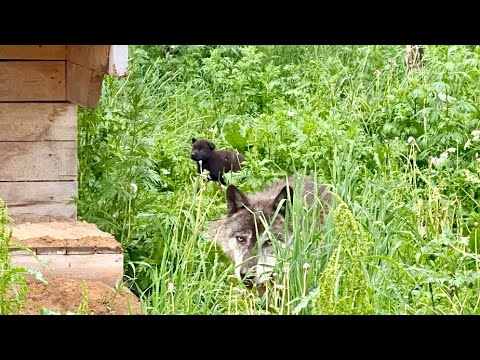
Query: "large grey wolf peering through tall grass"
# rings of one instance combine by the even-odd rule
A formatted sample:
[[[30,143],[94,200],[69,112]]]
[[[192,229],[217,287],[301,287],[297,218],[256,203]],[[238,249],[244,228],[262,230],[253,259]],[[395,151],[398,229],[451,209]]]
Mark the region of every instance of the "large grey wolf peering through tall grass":
[[[302,181],[303,195],[306,196],[309,206],[313,204],[314,191],[317,190],[317,196],[323,206],[319,218],[319,224],[322,224],[332,204],[332,193],[328,191],[329,186],[315,186],[310,177],[306,177]],[[299,188],[302,187],[297,187],[297,189]],[[226,191],[227,215],[223,219],[210,223],[208,235],[220,245],[225,255],[235,262],[237,278],[247,287],[258,285],[260,295],[264,291],[262,284],[270,278],[272,268],[276,263],[275,251],[269,234],[273,234],[274,239],[279,241],[282,246],[285,246],[291,237],[289,230],[285,233],[284,221],[287,201],[293,200],[294,189],[295,179],[293,177],[278,181],[266,189],[250,195],[244,194],[234,185],[229,185]],[[277,209],[278,213],[275,216]],[[260,214],[263,214],[264,220],[269,224],[269,231],[265,231],[265,222],[260,220]],[[287,229],[289,228],[287,227]]]

